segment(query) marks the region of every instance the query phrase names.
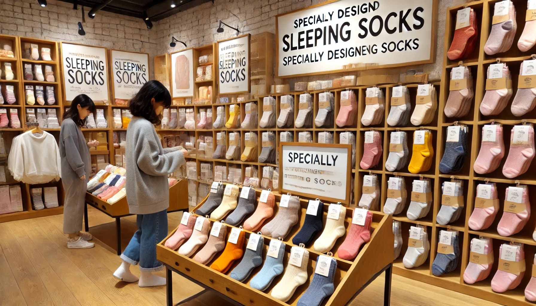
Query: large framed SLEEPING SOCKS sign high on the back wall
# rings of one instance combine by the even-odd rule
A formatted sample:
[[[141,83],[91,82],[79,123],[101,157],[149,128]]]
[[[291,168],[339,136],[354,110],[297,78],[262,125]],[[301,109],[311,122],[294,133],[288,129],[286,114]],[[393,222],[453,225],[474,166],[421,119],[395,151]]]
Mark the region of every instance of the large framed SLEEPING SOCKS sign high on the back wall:
[[[277,76],[432,63],[436,17],[437,0],[339,0],[278,15]]]

